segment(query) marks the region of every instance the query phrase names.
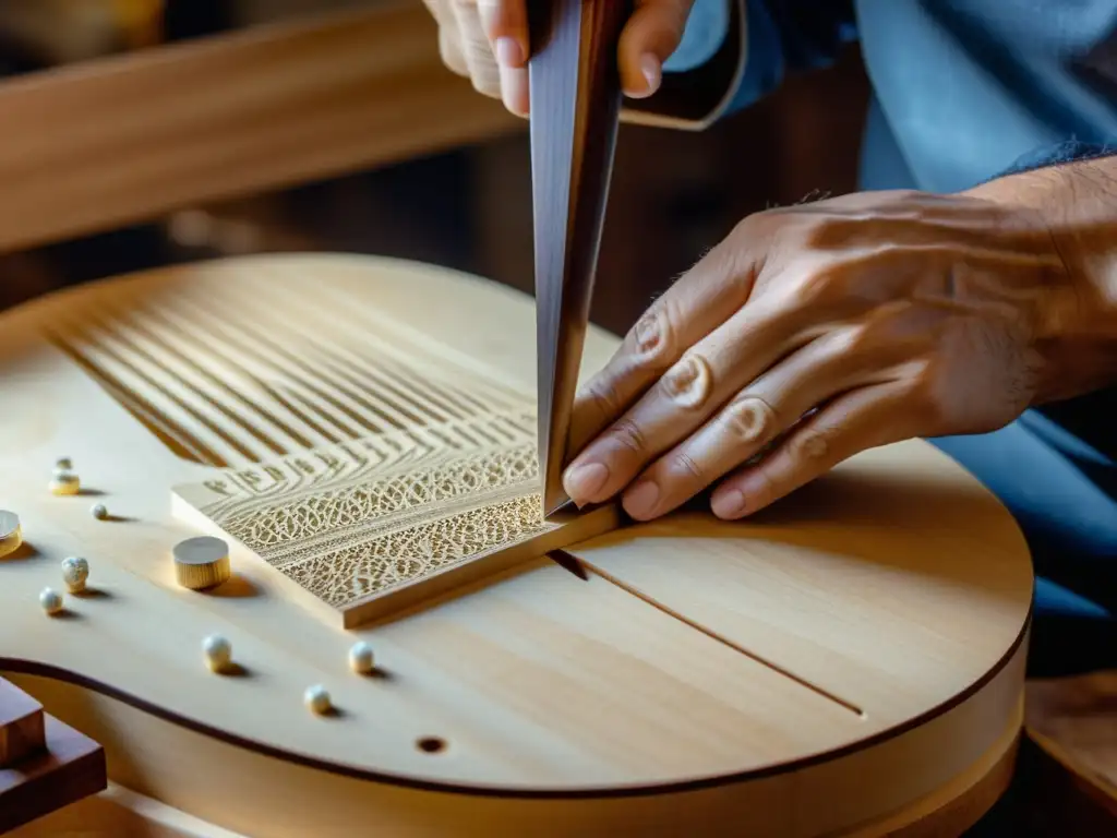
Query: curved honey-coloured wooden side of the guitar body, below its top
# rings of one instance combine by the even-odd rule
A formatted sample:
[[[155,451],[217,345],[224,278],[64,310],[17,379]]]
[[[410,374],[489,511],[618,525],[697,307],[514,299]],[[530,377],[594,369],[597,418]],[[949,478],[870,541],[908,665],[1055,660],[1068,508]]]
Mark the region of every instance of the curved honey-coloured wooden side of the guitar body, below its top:
[[[344,838],[366,830],[370,823],[385,835],[419,838],[448,834],[464,838],[496,834],[604,838],[633,832],[653,838],[727,834],[813,838],[821,834],[812,826],[812,816],[825,818],[832,812],[812,809],[847,794],[846,806],[865,813],[871,808],[865,806],[866,791],[872,792],[873,803],[878,799],[882,803],[880,815],[824,832],[828,838],[939,838],[963,835],[1008,782],[1023,710],[1018,704],[997,729],[992,724],[996,712],[991,713],[995,702],[986,701],[1002,687],[1013,689],[1015,676],[1004,676],[990,685],[984,699],[947,711],[913,735],[891,741],[882,751],[860,752],[856,756],[861,759],[839,762],[821,772],[817,784],[810,782],[811,772],[805,772],[808,784],[799,794],[786,793],[790,778],[770,775],[668,788],[653,794],[618,789],[603,796],[547,798],[445,796],[429,787],[328,773],[237,747],[64,680],[35,676],[17,676],[17,680],[71,723],[103,734],[116,782],[212,826],[252,838]],[[928,787],[935,772],[922,761],[936,749],[942,754],[944,735],[971,736],[984,744],[975,745],[980,756],[968,764],[965,754],[952,754],[951,780]],[[176,759],[165,759],[168,753]],[[869,769],[863,779],[858,773],[862,766]],[[888,802],[896,799],[908,802],[898,807]],[[324,811],[330,812],[328,819],[322,817]],[[116,838],[111,831],[107,836]]]

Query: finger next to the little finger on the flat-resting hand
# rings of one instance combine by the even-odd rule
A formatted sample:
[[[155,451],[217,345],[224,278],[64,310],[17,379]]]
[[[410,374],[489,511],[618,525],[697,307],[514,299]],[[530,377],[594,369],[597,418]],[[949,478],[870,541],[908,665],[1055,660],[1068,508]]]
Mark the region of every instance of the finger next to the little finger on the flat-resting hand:
[[[663,515],[762,451],[837,394],[896,377],[907,350],[870,345],[857,326],[808,343],[742,388],[697,431],[663,454],[623,494],[638,521]]]

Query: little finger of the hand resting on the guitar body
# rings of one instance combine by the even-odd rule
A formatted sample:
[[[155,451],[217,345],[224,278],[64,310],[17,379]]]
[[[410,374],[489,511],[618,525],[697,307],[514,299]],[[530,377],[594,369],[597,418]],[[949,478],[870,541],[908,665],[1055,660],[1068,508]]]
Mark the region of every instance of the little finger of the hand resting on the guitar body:
[[[710,496],[719,518],[751,515],[861,451],[918,436],[907,381],[852,390],[804,420],[755,465],[726,477]]]

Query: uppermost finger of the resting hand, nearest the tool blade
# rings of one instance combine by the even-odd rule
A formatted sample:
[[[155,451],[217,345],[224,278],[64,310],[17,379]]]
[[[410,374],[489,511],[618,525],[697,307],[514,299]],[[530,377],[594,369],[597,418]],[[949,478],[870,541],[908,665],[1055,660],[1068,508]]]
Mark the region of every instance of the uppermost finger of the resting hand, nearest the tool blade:
[[[629,330],[620,347],[579,390],[571,416],[570,450],[585,445],[636,401],[682,353],[745,304],[763,256],[723,241],[659,297]],[[592,493],[567,467],[571,497]]]

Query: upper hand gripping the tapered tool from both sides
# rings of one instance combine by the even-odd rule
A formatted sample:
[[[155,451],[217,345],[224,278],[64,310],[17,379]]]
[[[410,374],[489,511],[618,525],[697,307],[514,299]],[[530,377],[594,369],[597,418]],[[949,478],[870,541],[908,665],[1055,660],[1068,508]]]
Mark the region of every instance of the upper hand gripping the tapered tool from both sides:
[[[525,0],[423,0],[438,22],[442,60],[481,93],[526,116],[527,12]],[[618,61],[627,96],[659,88],[662,66],[679,46],[694,0],[636,0],[621,34]]]

